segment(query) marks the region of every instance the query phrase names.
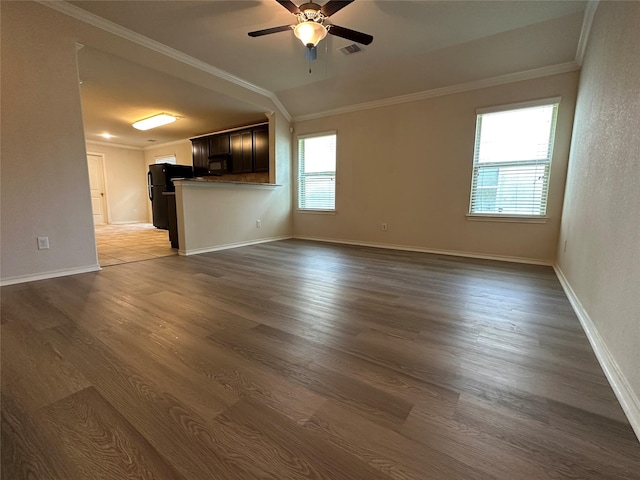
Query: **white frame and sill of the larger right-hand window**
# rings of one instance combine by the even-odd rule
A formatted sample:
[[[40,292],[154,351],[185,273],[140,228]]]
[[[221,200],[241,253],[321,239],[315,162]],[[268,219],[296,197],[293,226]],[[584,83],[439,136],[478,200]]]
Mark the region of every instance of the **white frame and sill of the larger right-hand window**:
[[[475,148],[473,154],[473,171],[471,178],[471,189],[469,195],[469,210],[467,213],[468,220],[480,220],[480,221],[497,221],[497,222],[525,222],[525,223],[545,223],[548,219],[547,217],[547,208],[548,208],[548,195],[549,195],[549,182],[551,177],[551,163],[553,158],[553,147],[556,135],[556,126],[557,126],[557,117],[558,117],[558,109],[561,102],[561,97],[554,98],[545,98],[540,100],[534,100],[530,102],[521,102],[509,105],[500,105],[489,108],[481,108],[476,110],[476,137],[475,137]],[[488,113],[497,113],[497,112],[508,112],[513,110],[520,110],[532,107],[541,107],[541,106],[554,106],[551,131],[550,131],[550,139],[548,145],[548,155],[545,159],[537,159],[537,160],[525,160],[525,161],[514,161],[514,162],[496,162],[496,163],[483,163],[479,165],[479,148],[480,148],[480,138],[481,138],[481,118],[482,115]],[[513,167],[513,166],[543,166],[545,168],[544,177],[542,178],[543,186],[542,186],[542,198],[540,201],[541,211],[539,214],[530,213],[530,214],[516,214],[516,213],[498,213],[498,212],[474,212],[474,195],[477,191],[477,181],[479,177],[479,172],[483,168],[500,168],[500,167]],[[474,188],[476,190],[474,190]]]

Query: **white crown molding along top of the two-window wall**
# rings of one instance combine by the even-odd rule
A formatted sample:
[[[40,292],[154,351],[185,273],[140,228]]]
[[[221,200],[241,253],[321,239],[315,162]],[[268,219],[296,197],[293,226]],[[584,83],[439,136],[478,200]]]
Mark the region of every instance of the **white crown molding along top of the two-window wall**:
[[[551,75],[558,75],[561,73],[574,72],[576,70],[580,70],[580,65],[578,65],[576,62],[561,63],[558,65],[551,65],[549,67],[541,67],[541,68],[535,68],[533,70],[526,70],[524,72],[508,73],[506,75],[500,75],[492,78],[485,78],[482,80],[474,80],[472,82],[461,83],[458,85],[451,85],[448,87],[425,90],[423,92],[410,93],[408,95],[400,95],[397,97],[374,100],[372,102],[349,105],[346,107],[335,108],[333,110],[326,110],[324,112],[319,112],[319,113],[299,115],[299,116],[293,117],[293,121],[303,122],[306,120],[313,120],[316,118],[329,117],[331,115],[341,115],[344,113],[358,112],[361,110],[370,110],[373,108],[380,108],[380,107],[388,107],[391,105],[398,105],[401,103],[416,102],[419,100],[426,100],[429,98],[443,97],[445,95],[453,95],[455,93],[463,93],[471,90],[479,90],[481,88],[505,85],[507,83],[522,82],[525,80],[533,80],[536,78],[548,77]]]

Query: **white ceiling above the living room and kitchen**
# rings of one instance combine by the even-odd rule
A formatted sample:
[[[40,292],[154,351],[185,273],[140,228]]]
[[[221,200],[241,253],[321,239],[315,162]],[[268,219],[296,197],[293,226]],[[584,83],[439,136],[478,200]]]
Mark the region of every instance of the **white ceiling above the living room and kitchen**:
[[[576,0],[357,0],[330,22],[369,33],[373,43],[345,56],[338,49],[352,42],[329,35],[309,64],[293,32],[247,35],[295,23],[273,0],[69,3],[266,90],[294,118],[571,64],[586,7],[586,1]],[[85,44],[78,53],[88,139],[109,131],[117,143],[147,146],[149,140],[162,143],[266,119],[264,103],[106,50]],[[159,111],[183,118],[142,134],[132,131],[131,119]]]

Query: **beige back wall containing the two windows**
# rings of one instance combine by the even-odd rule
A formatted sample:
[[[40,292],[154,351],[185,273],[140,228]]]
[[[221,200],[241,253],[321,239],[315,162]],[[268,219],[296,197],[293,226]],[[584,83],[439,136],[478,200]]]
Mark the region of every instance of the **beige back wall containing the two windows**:
[[[296,135],[337,130],[338,163],[336,214],[294,213],[295,236],[551,264],[577,81],[572,72],[297,122]],[[549,221],[467,220],[476,109],[555,96]]]

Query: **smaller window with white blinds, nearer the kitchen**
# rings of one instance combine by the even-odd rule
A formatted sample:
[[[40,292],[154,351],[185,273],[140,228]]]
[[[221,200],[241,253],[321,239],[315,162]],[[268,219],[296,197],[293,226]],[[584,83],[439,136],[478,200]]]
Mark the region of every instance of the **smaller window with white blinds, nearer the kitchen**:
[[[336,208],[335,132],[298,137],[298,208]]]

